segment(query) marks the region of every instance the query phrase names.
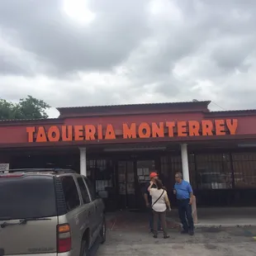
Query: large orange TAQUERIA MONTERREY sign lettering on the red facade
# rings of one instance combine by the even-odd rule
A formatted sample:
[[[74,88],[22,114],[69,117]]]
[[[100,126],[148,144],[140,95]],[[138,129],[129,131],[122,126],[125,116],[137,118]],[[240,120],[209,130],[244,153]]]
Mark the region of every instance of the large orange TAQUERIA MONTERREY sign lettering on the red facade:
[[[113,125],[85,126],[44,126],[26,127],[28,142],[57,142],[82,140],[115,140],[121,138],[145,139],[164,137],[191,137],[212,135],[235,135],[238,126],[237,119],[202,120],[202,121],[164,121],[141,122],[122,125],[121,132],[116,132]]]

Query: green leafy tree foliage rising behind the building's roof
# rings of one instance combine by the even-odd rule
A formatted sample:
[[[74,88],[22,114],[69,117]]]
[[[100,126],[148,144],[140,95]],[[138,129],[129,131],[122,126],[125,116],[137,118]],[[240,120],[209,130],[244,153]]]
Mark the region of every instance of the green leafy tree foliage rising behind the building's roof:
[[[46,110],[50,106],[31,95],[21,98],[18,103],[0,99],[0,120],[48,118]]]

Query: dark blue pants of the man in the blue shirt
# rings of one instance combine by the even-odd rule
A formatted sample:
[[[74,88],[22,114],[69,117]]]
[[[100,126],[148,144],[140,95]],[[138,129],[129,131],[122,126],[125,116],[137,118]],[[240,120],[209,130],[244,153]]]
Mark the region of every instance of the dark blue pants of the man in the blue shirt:
[[[192,217],[192,206],[189,199],[178,200],[178,216],[182,222],[183,230],[194,230],[194,221]]]

